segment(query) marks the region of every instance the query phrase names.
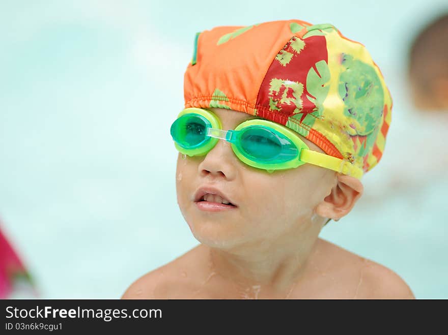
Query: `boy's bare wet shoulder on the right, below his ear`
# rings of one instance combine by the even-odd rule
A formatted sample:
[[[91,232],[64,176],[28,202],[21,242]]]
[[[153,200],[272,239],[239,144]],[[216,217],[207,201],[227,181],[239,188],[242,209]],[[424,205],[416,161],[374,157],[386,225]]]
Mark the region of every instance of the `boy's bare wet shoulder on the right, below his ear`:
[[[414,299],[406,282],[393,270],[363,258],[333,243],[319,239],[323,254],[331,255],[334,274],[350,283],[354,291],[353,298],[358,299]],[[338,267],[341,271],[338,270]]]

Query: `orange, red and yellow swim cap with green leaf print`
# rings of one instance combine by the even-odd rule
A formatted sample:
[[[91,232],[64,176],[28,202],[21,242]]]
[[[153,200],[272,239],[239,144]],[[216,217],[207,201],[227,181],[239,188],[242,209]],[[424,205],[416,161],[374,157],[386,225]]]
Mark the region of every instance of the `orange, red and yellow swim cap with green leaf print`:
[[[362,44],[300,20],[198,33],[185,108],[220,107],[284,125],[364,172],[381,159],[392,101]]]

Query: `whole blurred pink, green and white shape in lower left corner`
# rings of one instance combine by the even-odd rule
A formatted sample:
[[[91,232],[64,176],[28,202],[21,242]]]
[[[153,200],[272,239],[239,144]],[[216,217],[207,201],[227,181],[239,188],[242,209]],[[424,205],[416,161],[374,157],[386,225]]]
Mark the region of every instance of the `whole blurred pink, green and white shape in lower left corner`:
[[[30,273],[0,229],[0,299],[36,295]]]

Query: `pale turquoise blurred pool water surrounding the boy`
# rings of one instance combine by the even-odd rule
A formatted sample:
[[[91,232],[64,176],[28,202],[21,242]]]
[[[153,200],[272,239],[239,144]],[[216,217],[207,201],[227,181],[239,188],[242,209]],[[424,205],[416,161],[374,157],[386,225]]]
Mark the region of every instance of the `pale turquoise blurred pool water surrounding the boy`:
[[[413,39],[442,12],[446,0],[2,1],[0,229],[33,284],[9,297],[119,298],[196,246],[169,134],[194,35],[302,19],[366,45],[394,99],[364,195],[321,237],[417,298],[448,298],[447,113],[416,108],[407,76]]]

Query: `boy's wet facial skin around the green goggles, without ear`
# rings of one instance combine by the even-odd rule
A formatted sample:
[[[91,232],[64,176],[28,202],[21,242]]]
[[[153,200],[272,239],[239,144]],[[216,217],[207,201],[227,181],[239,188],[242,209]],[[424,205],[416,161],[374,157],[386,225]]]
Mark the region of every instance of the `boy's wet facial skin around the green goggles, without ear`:
[[[258,118],[234,110],[209,109],[220,118],[224,130]],[[323,153],[314,143],[297,136],[311,150]],[[210,247],[282,242],[318,224],[313,223],[314,208],[330,193],[334,180],[334,171],[311,164],[273,173],[250,167],[236,157],[229,142],[219,140],[206,156],[184,159],[179,153],[177,201],[194,237]],[[220,190],[236,207],[201,210],[194,196],[204,186]]]

